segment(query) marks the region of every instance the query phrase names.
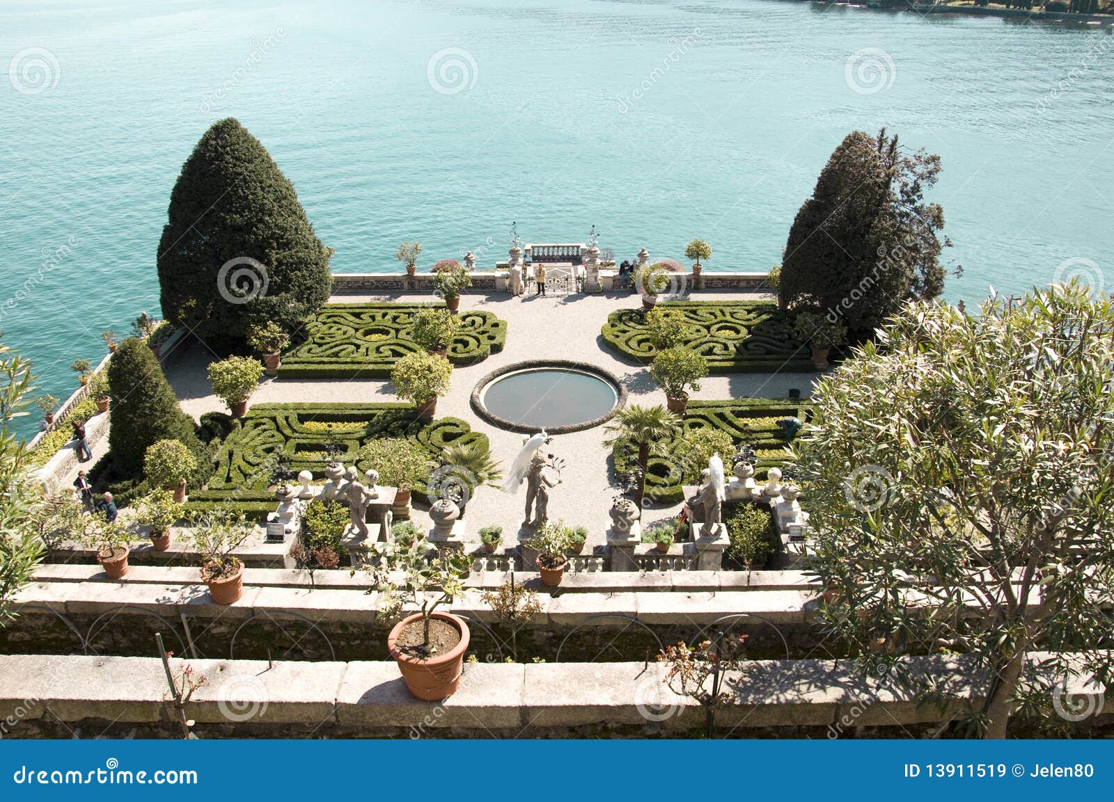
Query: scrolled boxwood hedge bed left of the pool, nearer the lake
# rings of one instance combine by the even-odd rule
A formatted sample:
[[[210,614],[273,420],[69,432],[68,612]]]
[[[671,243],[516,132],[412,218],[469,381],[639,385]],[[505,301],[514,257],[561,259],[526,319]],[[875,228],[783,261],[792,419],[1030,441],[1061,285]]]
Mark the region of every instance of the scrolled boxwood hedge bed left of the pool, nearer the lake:
[[[305,341],[282,358],[282,378],[388,376],[399,357],[420,350],[411,338],[413,314],[439,304],[330,304],[306,326]],[[507,321],[490,311],[463,311],[449,362],[471,364],[502,350]]]

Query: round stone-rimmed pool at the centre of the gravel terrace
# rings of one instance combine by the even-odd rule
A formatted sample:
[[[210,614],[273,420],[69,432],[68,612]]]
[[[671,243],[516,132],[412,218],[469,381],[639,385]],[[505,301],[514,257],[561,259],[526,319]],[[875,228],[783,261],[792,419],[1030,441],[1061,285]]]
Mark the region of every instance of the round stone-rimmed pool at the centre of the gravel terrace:
[[[511,432],[578,432],[608,420],[626,400],[622,383],[592,365],[564,360],[508,365],[472,390],[472,408]]]

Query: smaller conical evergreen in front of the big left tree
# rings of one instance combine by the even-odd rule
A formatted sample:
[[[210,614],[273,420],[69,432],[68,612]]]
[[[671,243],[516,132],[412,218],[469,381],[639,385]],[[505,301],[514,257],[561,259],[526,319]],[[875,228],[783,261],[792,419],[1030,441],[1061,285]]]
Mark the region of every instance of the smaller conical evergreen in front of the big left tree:
[[[129,337],[113,354],[108,390],[113,409],[108,439],[116,474],[140,475],[147,447],[160,439],[180,440],[199,465],[208,462],[193,418],[182,412],[163,368],[143,340]]]

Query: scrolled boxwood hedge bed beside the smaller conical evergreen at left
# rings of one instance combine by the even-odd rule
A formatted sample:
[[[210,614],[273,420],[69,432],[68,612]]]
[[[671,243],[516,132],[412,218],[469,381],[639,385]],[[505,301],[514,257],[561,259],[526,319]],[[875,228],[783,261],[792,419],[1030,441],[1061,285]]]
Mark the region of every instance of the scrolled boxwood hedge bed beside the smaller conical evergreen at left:
[[[189,495],[187,511],[214,507],[242,512],[256,521],[274,512],[272,475],[282,465],[293,473],[310,471],[324,476],[329,458],[325,446],[340,446],[338,459],[355,465],[360,448],[380,437],[408,437],[438,461],[441,450],[456,443],[487,443],[487,435],[471,430],[459,418],[438,418],[423,425],[412,404],[257,404],[221,444],[213,462],[208,486]],[[416,486],[416,494],[426,487]]]

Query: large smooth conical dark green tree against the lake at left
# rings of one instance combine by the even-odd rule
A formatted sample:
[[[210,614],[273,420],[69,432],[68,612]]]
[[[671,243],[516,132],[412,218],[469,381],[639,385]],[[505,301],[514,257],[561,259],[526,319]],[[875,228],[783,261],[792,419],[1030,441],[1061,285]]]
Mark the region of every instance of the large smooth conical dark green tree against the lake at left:
[[[203,338],[243,339],[264,320],[293,328],[328,300],[331,256],[263,145],[221,120],[170,192],[158,246],[163,315]]]

